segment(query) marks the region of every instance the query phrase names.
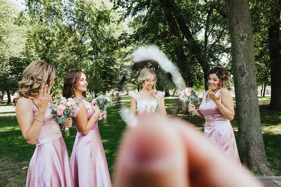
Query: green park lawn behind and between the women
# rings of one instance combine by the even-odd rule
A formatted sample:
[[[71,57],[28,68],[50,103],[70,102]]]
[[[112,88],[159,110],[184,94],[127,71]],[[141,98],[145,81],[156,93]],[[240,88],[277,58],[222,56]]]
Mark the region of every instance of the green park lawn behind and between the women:
[[[119,143],[126,129],[126,124],[119,115],[119,107],[124,105],[129,108],[130,97],[119,96],[115,98],[114,102],[116,106],[107,109],[108,124],[99,123],[100,135],[111,175],[114,170]],[[281,112],[267,110],[269,102],[270,97],[259,97],[265,151],[273,172],[281,175]],[[179,114],[182,105],[178,103],[177,97],[165,98],[165,105],[169,114],[175,115],[177,113],[178,117],[195,124],[197,129],[203,131],[203,119]],[[199,104],[196,104],[196,106],[198,108]],[[28,169],[23,168],[29,165],[35,146],[28,145],[23,139],[14,112],[1,111],[0,115],[7,115],[7,113],[11,113],[11,116],[0,116],[0,186],[25,186]],[[231,124],[238,145],[236,120],[236,117],[234,117]],[[69,156],[71,156],[75,136],[76,128],[73,126],[70,128],[70,136],[64,137]]]

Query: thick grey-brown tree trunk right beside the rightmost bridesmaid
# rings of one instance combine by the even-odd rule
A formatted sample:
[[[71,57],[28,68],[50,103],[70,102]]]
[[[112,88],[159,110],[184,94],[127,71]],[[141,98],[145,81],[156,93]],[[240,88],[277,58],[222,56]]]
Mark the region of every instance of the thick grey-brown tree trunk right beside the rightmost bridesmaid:
[[[238,115],[239,156],[249,169],[268,174],[271,172],[265,156],[261,131],[249,0],[225,1]]]

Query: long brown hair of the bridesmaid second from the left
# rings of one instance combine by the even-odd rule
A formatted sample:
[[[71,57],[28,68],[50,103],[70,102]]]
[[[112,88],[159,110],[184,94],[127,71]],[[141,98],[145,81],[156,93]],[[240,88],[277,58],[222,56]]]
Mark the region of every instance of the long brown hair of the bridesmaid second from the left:
[[[76,86],[79,84],[79,81],[81,79],[82,73],[85,74],[82,70],[71,70],[67,73],[65,79],[64,79],[64,87],[62,89],[62,96],[65,98],[70,98],[72,96],[75,96],[74,90]],[[85,74],[86,75],[86,74]],[[82,93],[83,96],[86,95],[86,92]]]

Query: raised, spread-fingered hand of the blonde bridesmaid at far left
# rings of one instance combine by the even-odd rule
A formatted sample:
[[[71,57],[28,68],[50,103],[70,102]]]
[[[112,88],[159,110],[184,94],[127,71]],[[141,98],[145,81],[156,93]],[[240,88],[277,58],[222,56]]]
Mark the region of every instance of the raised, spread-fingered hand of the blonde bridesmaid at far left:
[[[40,91],[40,95],[37,98],[34,97],[29,97],[29,99],[32,99],[33,103],[35,104],[35,106],[38,108],[38,112],[46,112],[47,107],[49,105],[49,101],[52,98],[53,94],[55,93],[55,91],[53,91],[51,93],[51,88],[52,86],[50,86],[48,88],[48,84],[47,85],[43,85],[41,87],[41,91]]]

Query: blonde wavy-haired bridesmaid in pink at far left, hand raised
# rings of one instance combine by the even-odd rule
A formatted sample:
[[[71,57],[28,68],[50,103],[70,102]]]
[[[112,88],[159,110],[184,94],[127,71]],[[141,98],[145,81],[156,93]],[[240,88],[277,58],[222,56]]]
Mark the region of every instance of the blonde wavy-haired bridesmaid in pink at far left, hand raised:
[[[26,186],[74,186],[68,152],[61,129],[51,112],[51,87],[56,70],[42,60],[32,62],[19,83],[14,100],[23,138],[36,145],[30,160]],[[72,126],[71,118],[64,124]]]

